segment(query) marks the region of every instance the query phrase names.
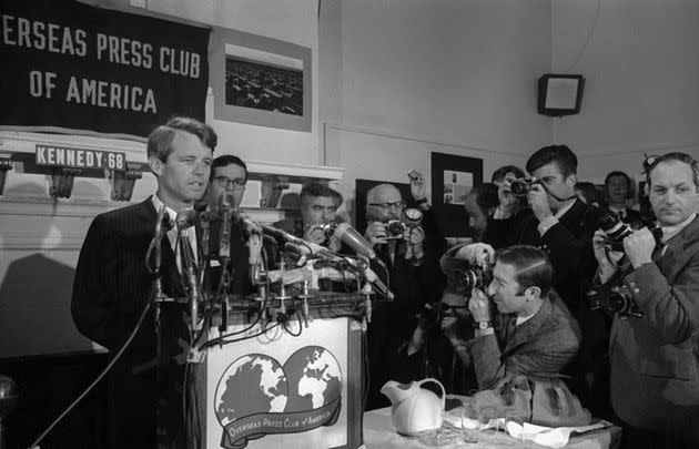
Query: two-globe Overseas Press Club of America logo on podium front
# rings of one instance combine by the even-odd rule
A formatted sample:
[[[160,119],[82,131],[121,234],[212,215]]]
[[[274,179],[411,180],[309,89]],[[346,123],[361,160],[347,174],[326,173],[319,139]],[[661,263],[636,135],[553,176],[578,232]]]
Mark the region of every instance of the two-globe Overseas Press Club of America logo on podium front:
[[[306,346],[282,366],[263,354],[233,361],[216,386],[221,447],[241,449],[269,433],[304,432],[337,421],[342,373],[335,356]]]

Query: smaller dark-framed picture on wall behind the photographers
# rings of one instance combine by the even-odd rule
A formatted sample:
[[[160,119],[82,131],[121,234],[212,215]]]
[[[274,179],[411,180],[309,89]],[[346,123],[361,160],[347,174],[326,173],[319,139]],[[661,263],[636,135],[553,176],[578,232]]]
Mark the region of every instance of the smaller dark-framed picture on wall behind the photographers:
[[[470,237],[464,198],[483,183],[483,160],[456,154],[432,153],[432,202],[445,237]]]

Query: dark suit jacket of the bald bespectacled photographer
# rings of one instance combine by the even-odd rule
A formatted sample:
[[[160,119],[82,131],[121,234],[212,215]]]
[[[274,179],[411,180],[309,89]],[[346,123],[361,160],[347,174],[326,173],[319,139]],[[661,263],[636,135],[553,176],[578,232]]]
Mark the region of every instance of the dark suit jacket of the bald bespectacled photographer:
[[[425,304],[439,300],[444,289],[445,280],[438,261],[445,243],[432,210],[425,212],[423,229],[425,256],[417,266],[405,259],[406,244],[403,239],[396,243],[393,262],[386,251],[387,245],[374,247],[377,257],[388,268],[388,277],[375,261],[372,261],[371,268],[391,288],[395,298],[393,302],[377,298],[379,300],[374,303],[367,335],[371,376],[367,409],[389,405],[378,391],[387,380],[415,380],[405,364],[396,361],[401,359],[398,349],[409,340],[417,325],[417,313]]]

